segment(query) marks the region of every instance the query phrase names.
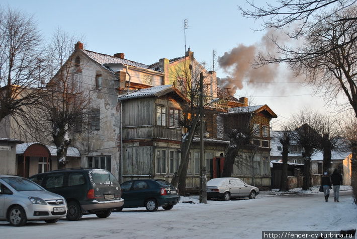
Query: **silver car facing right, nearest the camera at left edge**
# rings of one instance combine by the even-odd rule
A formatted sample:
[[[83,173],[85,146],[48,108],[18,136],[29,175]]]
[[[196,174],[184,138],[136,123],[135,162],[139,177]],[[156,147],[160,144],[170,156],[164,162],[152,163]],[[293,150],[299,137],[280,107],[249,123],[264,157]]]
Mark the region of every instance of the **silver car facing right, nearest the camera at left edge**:
[[[54,223],[66,216],[65,199],[48,192],[31,180],[0,175],[0,220],[23,226],[28,220]]]

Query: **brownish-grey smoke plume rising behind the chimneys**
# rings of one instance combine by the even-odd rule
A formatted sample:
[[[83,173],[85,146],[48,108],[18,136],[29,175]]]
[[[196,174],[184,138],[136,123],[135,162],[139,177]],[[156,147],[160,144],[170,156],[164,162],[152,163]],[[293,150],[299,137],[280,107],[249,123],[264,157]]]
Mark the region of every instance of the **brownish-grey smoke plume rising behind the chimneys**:
[[[275,81],[279,75],[278,64],[263,65],[257,68],[251,65],[258,53],[264,55],[265,52],[275,50],[275,45],[269,38],[272,37],[273,31],[267,31],[259,43],[250,46],[240,44],[218,57],[220,67],[228,74],[225,78],[218,80],[218,85],[221,88],[230,88],[229,92],[233,95],[238,89],[243,88],[243,82],[260,88],[266,87],[265,83]],[[276,34],[277,32],[274,32],[274,37]],[[282,34],[279,35],[281,37]]]

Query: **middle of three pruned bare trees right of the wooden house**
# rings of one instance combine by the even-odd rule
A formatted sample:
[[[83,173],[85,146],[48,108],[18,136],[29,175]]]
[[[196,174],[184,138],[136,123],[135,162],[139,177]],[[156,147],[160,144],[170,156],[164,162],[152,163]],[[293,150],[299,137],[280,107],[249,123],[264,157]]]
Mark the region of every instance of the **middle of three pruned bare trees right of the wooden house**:
[[[303,147],[304,157],[303,185],[302,189],[311,187],[311,155],[319,148],[319,134],[316,132],[317,119],[311,110],[303,109],[293,116],[293,125],[296,127],[292,139],[297,145]]]

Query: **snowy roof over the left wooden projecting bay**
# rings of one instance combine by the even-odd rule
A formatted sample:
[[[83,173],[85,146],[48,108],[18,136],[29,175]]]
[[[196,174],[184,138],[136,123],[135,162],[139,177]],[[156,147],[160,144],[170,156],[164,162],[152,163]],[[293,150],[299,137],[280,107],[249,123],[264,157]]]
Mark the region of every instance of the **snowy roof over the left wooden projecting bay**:
[[[118,96],[118,99],[128,100],[128,99],[143,98],[143,97],[160,97],[172,91],[174,91],[172,85],[150,87],[146,89],[140,89],[138,91],[129,94],[120,95]]]

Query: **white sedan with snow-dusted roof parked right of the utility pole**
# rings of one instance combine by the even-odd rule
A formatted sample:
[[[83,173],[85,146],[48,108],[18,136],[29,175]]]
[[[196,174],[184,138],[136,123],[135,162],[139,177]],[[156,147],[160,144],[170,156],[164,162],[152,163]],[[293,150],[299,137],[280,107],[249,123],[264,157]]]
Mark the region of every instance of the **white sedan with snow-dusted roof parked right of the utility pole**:
[[[237,178],[216,178],[207,182],[207,199],[221,198],[224,201],[229,201],[231,198],[254,199],[257,194],[259,194],[257,187]]]

